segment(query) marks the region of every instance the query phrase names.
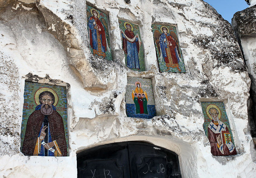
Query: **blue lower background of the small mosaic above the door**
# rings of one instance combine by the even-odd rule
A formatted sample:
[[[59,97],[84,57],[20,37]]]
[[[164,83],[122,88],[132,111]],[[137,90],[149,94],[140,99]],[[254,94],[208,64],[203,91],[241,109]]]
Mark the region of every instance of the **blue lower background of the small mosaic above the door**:
[[[126,114],[127,117],[138,117],[144,119],[151,119],[156,116],[155,105],[147,105],[149,114],[136,114],[135,104],[126,104]]]

